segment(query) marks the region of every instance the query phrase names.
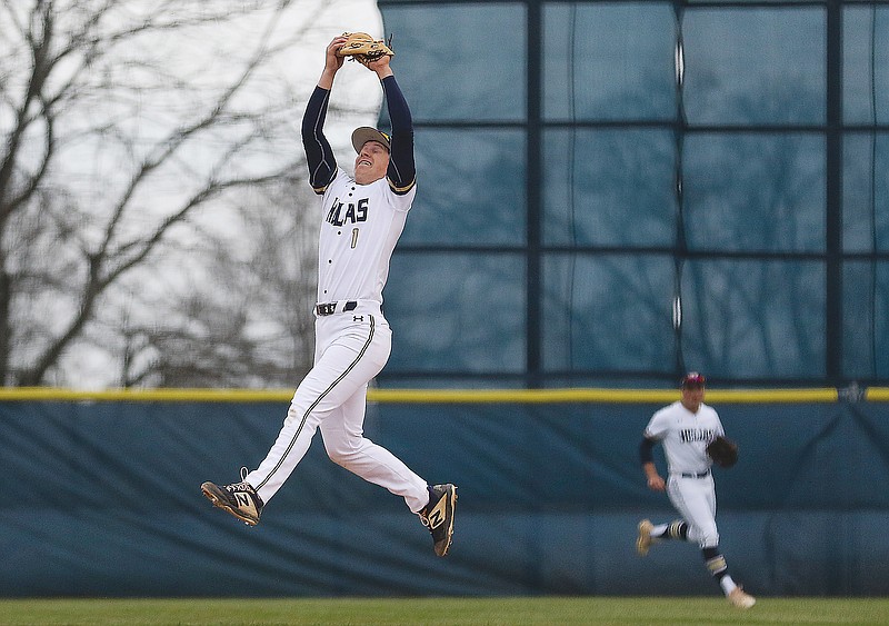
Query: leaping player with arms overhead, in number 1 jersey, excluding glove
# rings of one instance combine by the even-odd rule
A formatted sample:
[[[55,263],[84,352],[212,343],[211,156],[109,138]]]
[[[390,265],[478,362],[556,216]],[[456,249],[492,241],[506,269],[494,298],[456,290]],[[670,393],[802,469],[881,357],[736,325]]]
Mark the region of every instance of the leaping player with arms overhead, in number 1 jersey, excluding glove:
[[[413,125],[396,82],[390,57],[359,59],[381,81],[392,135],[373,128],[352,133],[358,152],[354,176],[337,166],[322,132],[333,78],[342,67],[327,47],[324,69],[302,119],[309,181],[321,196],[318,247],[318,304],[314,365],[290,403],[283,427],[266,459],[241,481],[201,490],[213,505],[253,526],[284,484],[320,428],[331,460],[364,480],[404,498],[432,534],[434,552],[446,556],[453,535],[457,487],[430,486],[384,448],[363,437],[368,382],[389,359],[392,334],[383,317],[382,289],[389,260],[417,192]]]

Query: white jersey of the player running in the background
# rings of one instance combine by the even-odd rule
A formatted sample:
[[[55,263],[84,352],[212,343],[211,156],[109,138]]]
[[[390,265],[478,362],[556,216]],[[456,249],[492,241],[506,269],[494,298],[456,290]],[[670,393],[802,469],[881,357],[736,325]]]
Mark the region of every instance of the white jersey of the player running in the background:
[[[707,445],[723,435],[716,410],[701,403],[697,414],[682,403],[663,407],[651,416],[645,436],[663,444],[670,474],[701,474],[712,465]]]

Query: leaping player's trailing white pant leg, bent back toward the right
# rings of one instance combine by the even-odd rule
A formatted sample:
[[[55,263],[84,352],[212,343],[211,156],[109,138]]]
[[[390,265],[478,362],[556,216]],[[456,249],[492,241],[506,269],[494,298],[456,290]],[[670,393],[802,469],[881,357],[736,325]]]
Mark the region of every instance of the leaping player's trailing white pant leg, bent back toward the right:
[[[404,498],[413,513],[429,501],[426,480],[392,453],[363,436],[367,385],[321,421],[321,437],[330,459],[390,493]]]

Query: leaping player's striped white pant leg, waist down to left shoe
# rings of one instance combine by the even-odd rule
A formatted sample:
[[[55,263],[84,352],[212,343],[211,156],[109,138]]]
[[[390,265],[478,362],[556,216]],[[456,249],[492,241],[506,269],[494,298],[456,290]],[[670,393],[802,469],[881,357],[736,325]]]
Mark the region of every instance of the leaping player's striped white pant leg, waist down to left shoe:
[[[381,316],[319,318],[316,334],[314,366],[297,388],[266,459],[246,478],[263,503],[278,493],[306,455],[319,424],[353,396],[363,399],[368,381],[389,359],[392,334]]]

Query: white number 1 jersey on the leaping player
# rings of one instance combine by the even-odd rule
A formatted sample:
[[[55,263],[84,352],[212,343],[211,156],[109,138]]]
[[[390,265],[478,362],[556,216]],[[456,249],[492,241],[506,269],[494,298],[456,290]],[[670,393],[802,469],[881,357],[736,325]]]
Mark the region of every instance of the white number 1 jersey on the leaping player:
[[[387,178],[358,185],[337,168],[337,176],[322,199],[319,302],[372,300],[382,304],[389,260],[416,195],[416,185],[399,196]]]

